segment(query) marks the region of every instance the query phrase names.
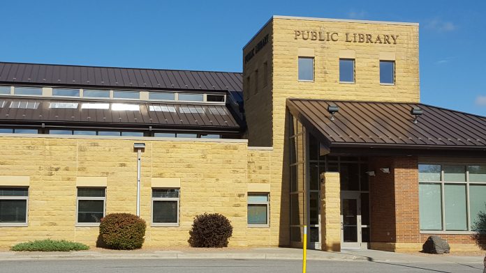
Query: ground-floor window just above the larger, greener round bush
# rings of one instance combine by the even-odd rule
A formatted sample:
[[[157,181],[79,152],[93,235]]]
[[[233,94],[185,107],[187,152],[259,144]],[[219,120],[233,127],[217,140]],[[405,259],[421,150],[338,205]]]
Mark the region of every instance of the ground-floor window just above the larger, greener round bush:
[[[98,225],[105,217],[105,188],[78,188],[78,224]]]

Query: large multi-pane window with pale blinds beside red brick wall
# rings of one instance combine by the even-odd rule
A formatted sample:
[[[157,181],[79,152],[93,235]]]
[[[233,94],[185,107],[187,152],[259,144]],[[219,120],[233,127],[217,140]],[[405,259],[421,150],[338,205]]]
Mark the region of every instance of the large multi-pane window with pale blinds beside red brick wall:
[[[486,231],[486,166],[419,164],[418,172],[421,231]]]

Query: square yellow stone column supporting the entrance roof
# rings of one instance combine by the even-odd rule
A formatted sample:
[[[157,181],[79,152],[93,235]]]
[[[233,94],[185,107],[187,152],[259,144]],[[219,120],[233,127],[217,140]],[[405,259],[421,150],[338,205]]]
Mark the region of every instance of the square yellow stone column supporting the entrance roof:
[[[321,249],[341,251],[341,188],[339,173],[321,173]]]

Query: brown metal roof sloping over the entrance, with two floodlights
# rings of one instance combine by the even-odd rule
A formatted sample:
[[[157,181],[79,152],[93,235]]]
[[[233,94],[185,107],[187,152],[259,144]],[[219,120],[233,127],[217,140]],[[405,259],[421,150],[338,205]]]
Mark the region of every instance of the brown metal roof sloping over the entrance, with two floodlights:
[[[327,107],[339,112],[330,120]],[[486,148],[486,117],[420,103],[289,99],[287,106],[328,147]],[[414,123],[412,107],[423,114]]]

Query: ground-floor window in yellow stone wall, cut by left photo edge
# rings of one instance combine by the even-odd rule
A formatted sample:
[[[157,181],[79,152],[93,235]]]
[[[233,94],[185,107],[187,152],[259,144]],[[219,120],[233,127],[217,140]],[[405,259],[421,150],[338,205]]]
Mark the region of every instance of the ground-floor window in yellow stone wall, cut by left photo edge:
[[[26,226],[27,187],[0,187],[0,226]]]

